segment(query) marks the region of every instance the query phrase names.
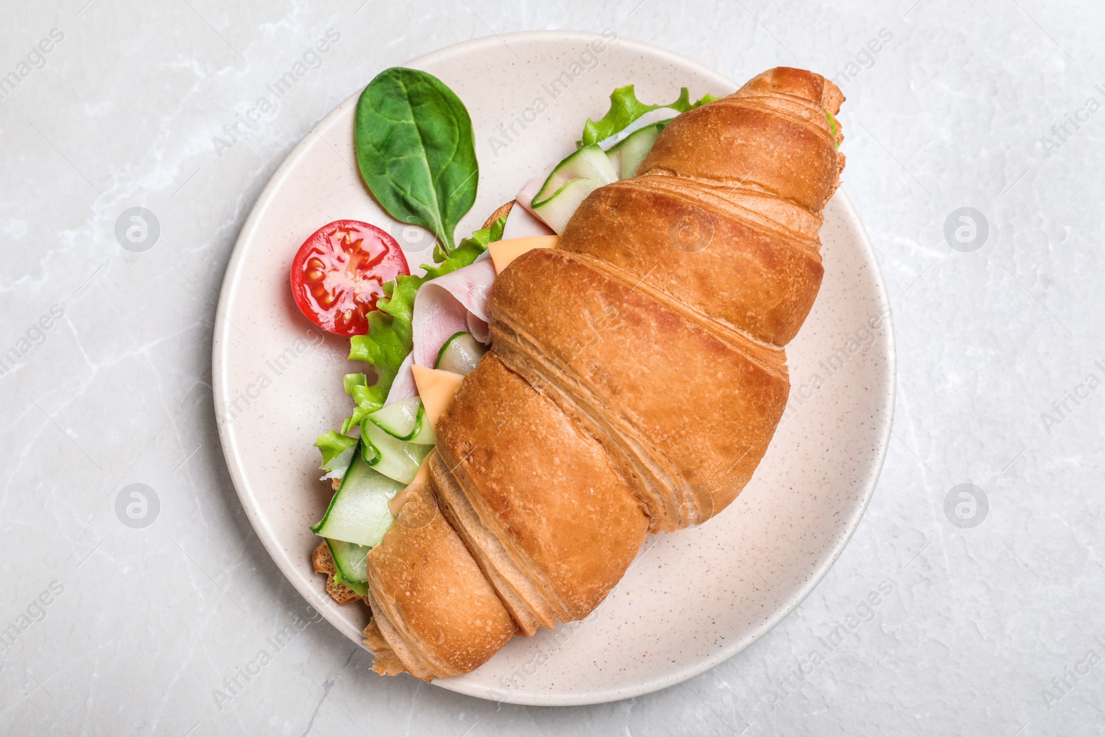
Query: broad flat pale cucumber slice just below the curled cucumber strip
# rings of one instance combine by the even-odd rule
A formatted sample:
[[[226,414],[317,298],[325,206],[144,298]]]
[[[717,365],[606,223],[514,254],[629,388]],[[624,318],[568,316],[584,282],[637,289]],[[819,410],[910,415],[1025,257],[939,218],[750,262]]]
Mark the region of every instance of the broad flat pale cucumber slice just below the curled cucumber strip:
[[[387,436],[387,433],[380,432]],[[354,453],[341,486],[330,499],[322,520],[313,525],[311,531],[330,540],[375,547],[394,522],[388,499],[406,485],[375,471],[365,462],[364,453]]]

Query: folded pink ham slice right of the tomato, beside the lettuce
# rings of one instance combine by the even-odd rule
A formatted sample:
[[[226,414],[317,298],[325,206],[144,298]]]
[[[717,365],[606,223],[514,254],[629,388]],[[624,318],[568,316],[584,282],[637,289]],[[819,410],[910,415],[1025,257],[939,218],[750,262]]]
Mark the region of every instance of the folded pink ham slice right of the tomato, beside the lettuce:
[[[482,259],[419,288],[411,324],[414,364],[433,368],[441,347],[457,333],[490,343],[487,289],[494,281],[494,264]]]

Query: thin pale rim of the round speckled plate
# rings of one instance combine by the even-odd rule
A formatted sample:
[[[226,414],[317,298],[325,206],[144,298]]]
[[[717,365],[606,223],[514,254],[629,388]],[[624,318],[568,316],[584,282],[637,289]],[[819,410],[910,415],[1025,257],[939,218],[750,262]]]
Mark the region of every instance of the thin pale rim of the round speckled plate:
[[[539,41],[567,41],[567,42],[579,42],[579,41],[590,41],[592,39],[600,38],[599,34],[585,32],[585,31],[522,31],[515,33],[498,34],[497,36],[485,36],[481,39],[474,39],[471,41],[464,41],[450,46],[445,46],[438,51],[431,52],[423,56],[407,62],[412,66],[422,66],[427,64],[441,63],[446,61],[451,56],[464,56],[471,53],[478,53],[481,49],[491,48],[493,45],[499,45],[505,43],[511,39],[525,39],[525,40],[539,40]],[[706,76],[715,76],[720,78],[726,78],[724,75],[715,70],[709,69],[698,62],[691,60],[686,56],[677,54],[675,52],[669,51],[661,46],[656,46],[642,41],[635,41],[627,39],[624,36],[619,36],[619,44],[624,44],[629,48],[639,51],[642,55],[656,57],[669,62],[677,66],[684,66],[694,70],[698,74]],[[738,86],[733,83],[732,80],[726,81],[734,87]],[[355,96],[359,95],[359,90],[355,93]],[[344,101],[347,102],[347,101]],[[323,126],[332,115],[336,114],[336,109],[328,113],[314,128]],[[219,305],[217,307],[218,314],[225,314],[225,308],[228,305],[234,302],[235,293],[241,284],[243,277],[248,277],[248,260],[243,255],[245,249],[243,244],[249,243],[255,235],[261,220],[265,217],[269,208],[272,206],[272,201],[275,198],[276,192],[280,190],[283,182],[295,171],[299,161],[307,154],[307,147],[305,144],[309,139],[309,134],[304,136],[304,139],[293,148],[293,150],[287,155],[281,166],[273,173],[269,183],[265,186],[261,196],[257,198],[250,211],[250,215],[246,218],[245,223],[239,234],[238,240],[234,243],[234,249],[231,253],[230,261],[227,265],[227,272],[223,277],[222,288],[219,295]],[[735,639],[730,643],[726,644],[724,647],[718,649],[716,652],[709,654],[708,656],[701,657],[697,661],[683,665],[673,667],[673,670],[662,676],[655,676],[652,678],[642,680],[634,686],[622,686],[614,688],[594,688],[593,691],[583,694],[534,694],[534,693],[519,693],[515,694],[509,702],[513,704],[523,705],[534,705],[534,706],[582,706],[588,704],[601,704],[614,701],[620,701],[624,698],[632,698],[634,696],[641,696],[644,694],[653,693],[667,688],[670,686],[682,683],[688,678],[693,678],[709,668],[723,663],[740,651],[748,647],[751,643],[759,640],[767,632],[772,630],[779,622],[781,622],[787,615],[789,615],[798,606],[806,600],[806,598],[817,588],[818,583],[825,577],[829,569],[832,568],[833,564],[840,558],[848,543],[851,540],[852,536],[855,534],[860,522],[863,518],[867,505],[871,503],[871,498],[874,495],[875,486],[878,482],[878,476],[883,467],[883,463],[886,457],[886,452],[890,444],[891,436],[891,424],[893,422],[894,413],[894,399],[896,393],[896,349],[894,343],[894,327],[893,327],[893,316],[890,309],[890,298],[886,293],[886,286],[882,277],[882,272],[878,269],[878,262],[875,257],[874,249],[871,245],[871,241],[866,234],[866,230],[860,220],[855,208],[852,206],[851,200],[848,198],[843,190],[838,190],[834,194],[834,200],[838,200],[840,204],[844,207],[846,219],[850,221],[852,227],[855,229],[859,235],[859,246],[860,251],[864,257],[866,265],[871,270],[871,278],[874,283],[875,297],[877,304],[883,308],[886,319],[886,330],[884,336],[886,354],[883,359],[886,361],[886,383],[882,387],[883,398],[885,401],[884,407],[887,408],[886,417],[882,421],[882,429],[877,436],[877,449],[875,452],[875,457],[872,459],[870,465],[866,470],[866,478],[864,480],[862,486],[862,498],[860,504],[855,505],[852,514],[846,519],[843,525],[841,535],[838,537],[836,544],[829,550],[829,555],[824,556],[821,562],[812,570],[810,576],[807,578],[806,582],[798,588],[798,590],[787,599],[786,602],[781,603],[780,607],[775,611],[775,613],[766,619],[759,627],[751,630],[748,634],[740,639]],[[264,516],[260,513],[257,508],[255,495],[250,487],[245,478],[243,471],[244,461],[242,457],[241,449],[239,448],[238,439],[233,432],[232,424],[224,424],[224,410],[229,399],[228,385],[225,381],[225,371],[228,369],[228,357],[227,357],[227,346],[229,330],[231,329],[230,322],[228,319],[218,320],[215,323],[214,335],[212,340],[212,389],[214,397],[214,409],[215,419],[220,427],[220,430],[225,428],[225,431],[220,431],[220,443],[222,445],[223,454],[227,460],[227,467],[230,472],[231,481],[234,484],[234,488],[238,493],[239,499],[245,509],[246,517],[250,519],[250,524],[253,526],[254,531],[256,531],[257,537],[261,539],[262,545],[265,550],[276,562],[276,566],[281,569],[288,581],[296,588],[296,590],[307,600],[308,603],[313,604],[320,612],[326,613],[326,603],[328,601],[328,596],[320,587],[314,586],[308,587],[303,583],[298,575],[296,561],[293,561],[290,556],[281,549],[276,535],[272,527],[267,524]],[[329,619],[329,618],[327,618]],[[337,622],[332,622],[339,630],[345,631],[341,624]],[[348,633],[347,633],[348,634]],[[477,698],[493,701],[488,691],[473,683],[460,682],[457,680],[446,678],[436,680],[433,682],[434,685],[456,693],[465,694],[469,696],[475,696]]]

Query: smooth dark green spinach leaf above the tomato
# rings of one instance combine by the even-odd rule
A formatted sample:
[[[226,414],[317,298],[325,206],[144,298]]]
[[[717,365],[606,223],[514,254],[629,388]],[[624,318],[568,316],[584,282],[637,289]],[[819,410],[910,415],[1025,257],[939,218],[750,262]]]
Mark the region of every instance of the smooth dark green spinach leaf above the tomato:
[[[360,176],[388,214],[429,229],[451,253],[480,179],[464,103],[431,74],[385,70],[357,102],[354,143]]]

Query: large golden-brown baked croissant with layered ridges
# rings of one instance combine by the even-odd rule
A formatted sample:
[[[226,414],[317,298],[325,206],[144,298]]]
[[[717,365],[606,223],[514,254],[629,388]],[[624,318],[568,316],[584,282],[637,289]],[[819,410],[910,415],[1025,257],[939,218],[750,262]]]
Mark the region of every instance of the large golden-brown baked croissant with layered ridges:
[[[376,671],[459,675],[581,619],[648,534],[701,524],[745,487],[821,284],[842,102],[778,67],[680,115],[559,248],[498,276],[492,350],[368,555]]]

